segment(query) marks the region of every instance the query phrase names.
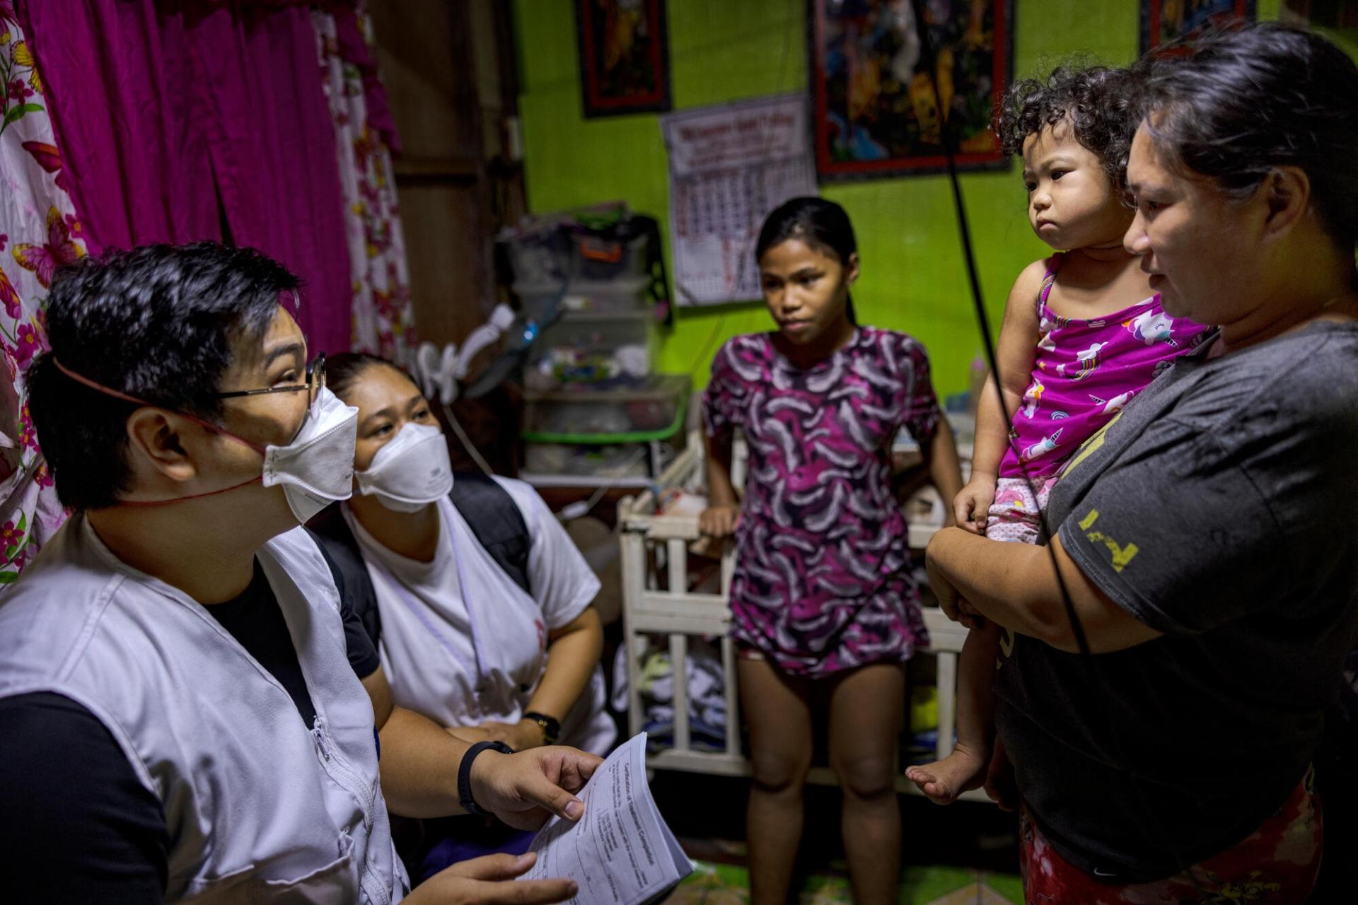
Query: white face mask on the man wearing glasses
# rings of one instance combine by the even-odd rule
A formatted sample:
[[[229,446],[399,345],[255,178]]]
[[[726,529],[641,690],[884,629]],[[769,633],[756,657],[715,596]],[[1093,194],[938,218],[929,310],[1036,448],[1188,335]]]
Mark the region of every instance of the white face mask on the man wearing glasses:
[[[353,495],[353,446],[359,437],[359,410],[320,388],[316,411],[287,446],[268,446],[263,486],[282,484],[297,521]]]

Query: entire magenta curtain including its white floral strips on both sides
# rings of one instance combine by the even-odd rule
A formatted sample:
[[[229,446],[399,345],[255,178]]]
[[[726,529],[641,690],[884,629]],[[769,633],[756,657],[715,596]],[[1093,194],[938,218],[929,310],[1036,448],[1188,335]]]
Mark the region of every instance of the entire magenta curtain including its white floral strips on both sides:
[[[24,384],[60,265],[230,237],[303,277],[299,322],[318,349],[409,362],[416,342],[398,140],[361,4],[30,0],[20,12],[0,0],[0,588],[67,517]]]

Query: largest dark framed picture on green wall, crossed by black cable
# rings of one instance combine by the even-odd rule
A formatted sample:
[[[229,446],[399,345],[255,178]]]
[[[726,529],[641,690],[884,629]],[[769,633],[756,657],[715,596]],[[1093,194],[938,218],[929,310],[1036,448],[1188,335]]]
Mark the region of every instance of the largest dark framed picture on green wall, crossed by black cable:
[[[1004,167],[990,130],[1009,83],[1012,0],[925,0],[928,65],[910,0],[809,0],[816,171],[875,176]],[[936,90],[937,88],[937,90]]]

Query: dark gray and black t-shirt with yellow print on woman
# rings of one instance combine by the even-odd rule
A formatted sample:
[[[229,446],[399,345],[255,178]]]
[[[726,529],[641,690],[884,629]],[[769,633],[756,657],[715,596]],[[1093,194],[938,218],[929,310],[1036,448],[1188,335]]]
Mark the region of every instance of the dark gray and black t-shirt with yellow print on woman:
[[[1358,326],[1176,360],[1070,460],[1052,531],[1162,638],[1019,638],[995,720],[1029,813],[1077,867],[1168,877],[1302,779],[1358,628]]]

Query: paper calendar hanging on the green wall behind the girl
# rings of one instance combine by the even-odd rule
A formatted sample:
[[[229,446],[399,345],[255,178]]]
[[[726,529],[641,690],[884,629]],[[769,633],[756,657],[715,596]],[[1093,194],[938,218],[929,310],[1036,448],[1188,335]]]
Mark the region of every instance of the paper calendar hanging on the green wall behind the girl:
[[[669,153],[675,300],[759,299],[755,237],[765,214],[816,194],[805,95],[684,110],[660,118]]]

